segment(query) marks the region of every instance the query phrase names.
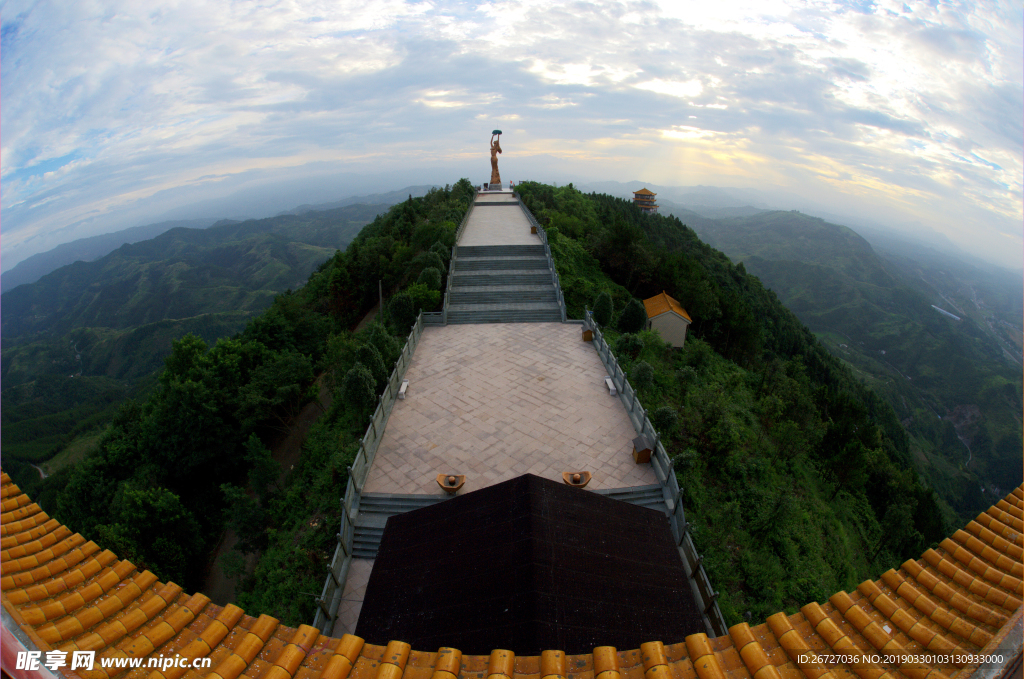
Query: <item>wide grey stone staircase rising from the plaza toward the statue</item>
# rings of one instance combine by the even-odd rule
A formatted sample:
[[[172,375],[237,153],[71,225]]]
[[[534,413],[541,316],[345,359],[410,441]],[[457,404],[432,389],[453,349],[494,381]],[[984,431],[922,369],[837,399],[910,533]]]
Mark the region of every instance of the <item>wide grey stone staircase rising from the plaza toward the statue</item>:
[[[447,322],[561,323],[543,245],[458,246]]]

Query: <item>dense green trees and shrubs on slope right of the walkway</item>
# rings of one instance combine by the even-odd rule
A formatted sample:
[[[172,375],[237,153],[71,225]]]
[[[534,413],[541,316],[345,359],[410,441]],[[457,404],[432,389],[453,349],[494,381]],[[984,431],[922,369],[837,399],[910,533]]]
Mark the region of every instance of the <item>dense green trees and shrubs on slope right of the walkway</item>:
[[[607,290],[633,333],[626,309],[665,290],[693,317],[682,350],[649,331],[605,336],[674,461],[730,624],[849,590],[946,534],[892,410],[742,265],[627,201],[519,190],[558,229],[570,315]]]

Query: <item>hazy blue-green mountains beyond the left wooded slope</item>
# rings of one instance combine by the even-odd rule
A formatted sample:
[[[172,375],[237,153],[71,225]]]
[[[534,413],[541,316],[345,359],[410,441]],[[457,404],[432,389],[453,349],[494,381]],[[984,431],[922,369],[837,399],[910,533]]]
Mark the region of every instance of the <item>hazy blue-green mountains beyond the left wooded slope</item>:
[[[151,384],[175,340],[241,331],[385,209],[173,228],[4,293],[5,464],[41,463],[95,437],[120,401]]]

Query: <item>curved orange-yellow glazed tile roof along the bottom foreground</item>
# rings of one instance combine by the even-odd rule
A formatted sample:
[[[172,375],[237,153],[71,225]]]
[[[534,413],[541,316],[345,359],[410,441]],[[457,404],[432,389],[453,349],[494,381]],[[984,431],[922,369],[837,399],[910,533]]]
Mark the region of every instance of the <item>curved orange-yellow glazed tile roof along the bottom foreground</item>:
[[[187,594],[147,570],[119,559],[50,518],[2,474],[0,589],[4,625],[33,650],[94,650],[97,657],[209,657],[203,670],[100,669],[85,679],[962,679],[978,669],[940,657],[1013,647],[1022,598],[1024,492],[956,531],[937,549],[853,592],[838,592],[798,613],[771,616],[710,639],[694,634],[676,643],[651,641],[639,649],[595,648],[566,656],[560,650],[517,656],[496,649],[463,655],[455,648],[413,650],[391,641],[364,643],[322,635],[306,625],[253,618],[234,605],[218,606]],[[9,639],[5,630],[5,642]],[[609,639],[614,643],[614,639]],[[1014,646],[1016,644],[1016,646]],[[854,657],[823,662],[824,654],[931,653],[928,662],[889,664]],[[8,667],[4,671],[27,676]],[[1007,657],[1009,663],[1011,657]]]

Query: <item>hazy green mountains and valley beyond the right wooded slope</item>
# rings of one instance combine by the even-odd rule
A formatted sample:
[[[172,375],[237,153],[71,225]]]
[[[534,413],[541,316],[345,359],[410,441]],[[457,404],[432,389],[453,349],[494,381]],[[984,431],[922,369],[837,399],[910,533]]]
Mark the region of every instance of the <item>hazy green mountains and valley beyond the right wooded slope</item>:
[[[681,218],[886,397],[929,483],[962,517],[1020,484],[1021,364],[1007,321],[1019,323],[1020,291],[1009,275],[898,242],[880,256],[853,230],[798,212]]]

